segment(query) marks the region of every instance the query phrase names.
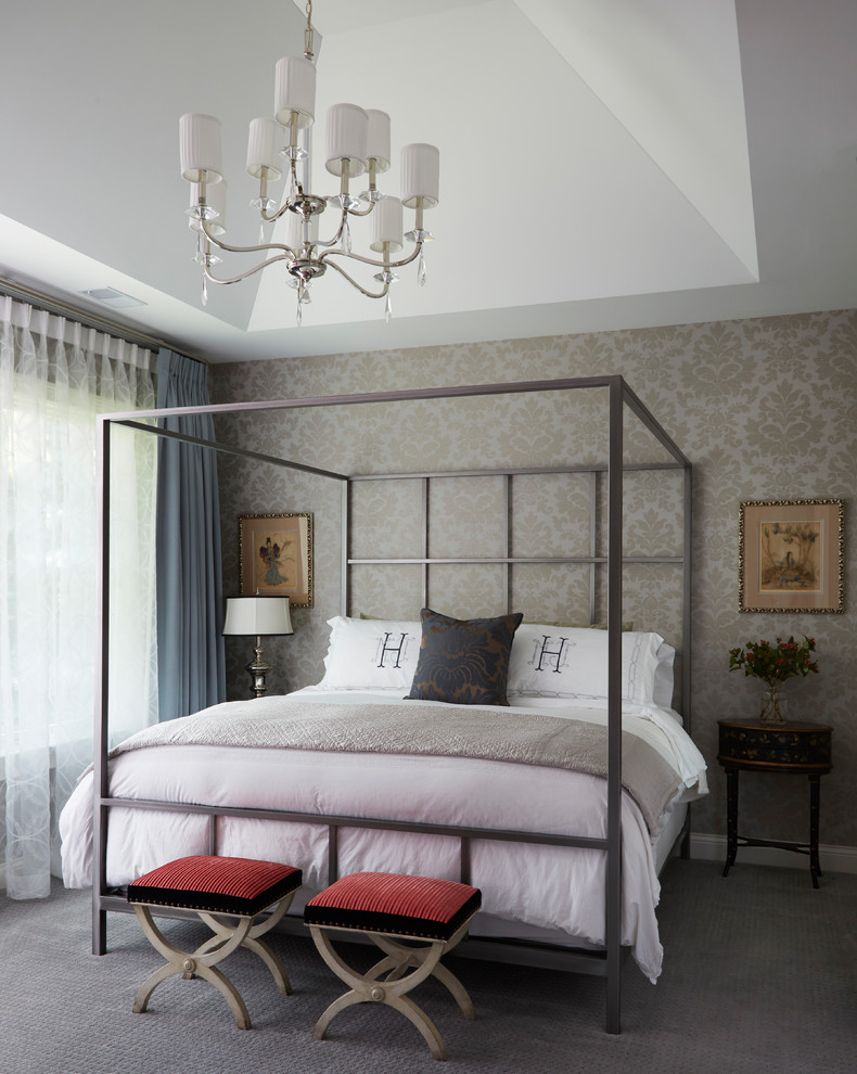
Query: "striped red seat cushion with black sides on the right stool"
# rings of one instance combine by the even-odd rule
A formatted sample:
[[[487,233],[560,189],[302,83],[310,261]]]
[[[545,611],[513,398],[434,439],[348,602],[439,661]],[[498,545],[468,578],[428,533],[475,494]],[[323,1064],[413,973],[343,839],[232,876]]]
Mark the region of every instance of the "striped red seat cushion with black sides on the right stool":
[[[453,880],[353,872],[307,903],[304,922],[449,939],[481,905],[477,887]]]

